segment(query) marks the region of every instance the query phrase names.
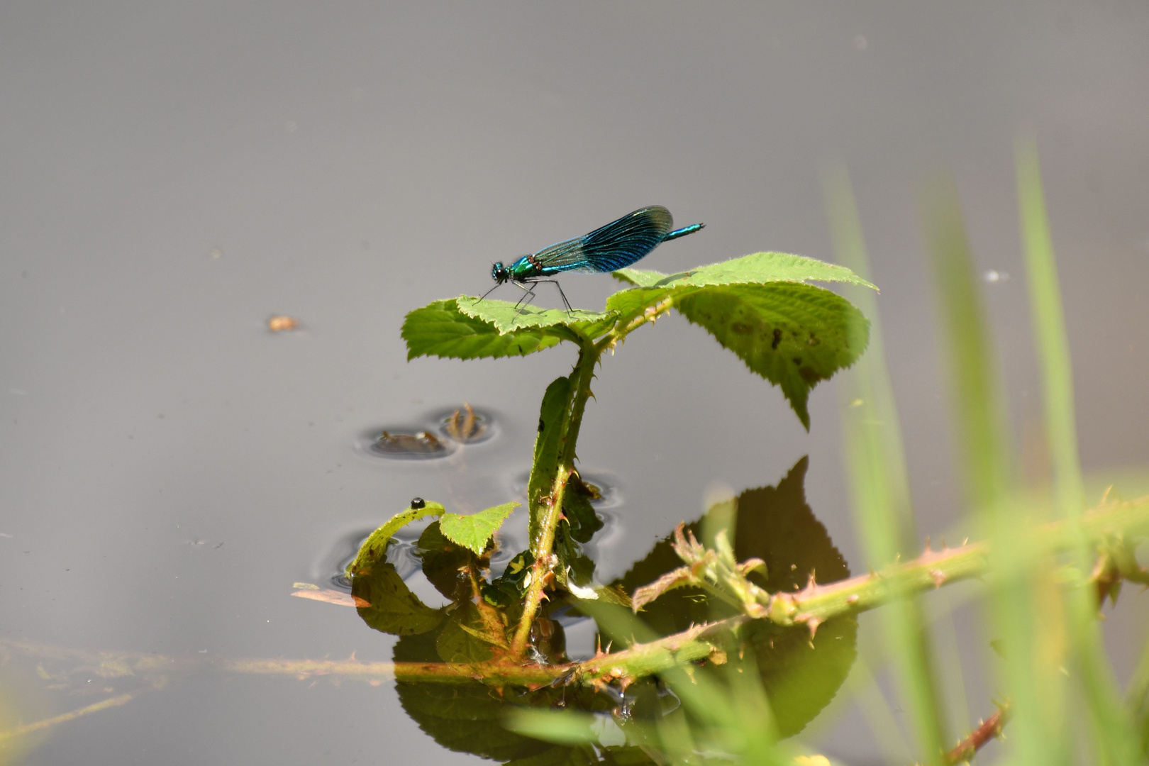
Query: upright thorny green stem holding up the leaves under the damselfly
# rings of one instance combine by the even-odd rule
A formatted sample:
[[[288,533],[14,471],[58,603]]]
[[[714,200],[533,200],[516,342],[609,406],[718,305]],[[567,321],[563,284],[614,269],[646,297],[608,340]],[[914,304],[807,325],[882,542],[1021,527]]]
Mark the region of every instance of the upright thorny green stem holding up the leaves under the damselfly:
[[[571,387],[566,404],[563,408],[563,417],[560,423],[560,448],[555,478],[550,486],[550,493],[545,497],[530,497],[530,512],[532,520],[537,523],[532,526],[538,533],[531,540],[531,554],[534,556],[534,564],[531,565],[531,582],[527,586],[526,596],[523,602],[523,616],[519,618],[515,629],[515,637],[511,640],[511,655],[522,657],[526,650],[526,644],[531,639],[531,625],[539,612],[539,605],[545,597],[543,589],[554,571],[557,558],[555,557],[555,532],[558,521],[563,517],[563,500],[566,496],[566,485],[570,481],[571,472],[574,470],[574,447],[578,442],[579,427],[583,425],[583,412],[586,410],[586,400],[591,396],[591,379],[594,377],[594,366],[599,363],[602,347],[596,346],[588,338],[580,338],[578,361],[571,372]],[[532,472],[545,470],[546,466],[533,466]]]

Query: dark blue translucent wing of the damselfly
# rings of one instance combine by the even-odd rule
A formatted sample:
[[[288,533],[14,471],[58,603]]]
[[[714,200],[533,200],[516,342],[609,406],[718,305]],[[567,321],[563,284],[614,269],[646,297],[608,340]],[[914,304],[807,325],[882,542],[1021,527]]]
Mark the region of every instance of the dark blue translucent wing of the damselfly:
[[[666,208],[642,208],[585,237],[556,242],[535,253],[534,257],[543,274],[615,271],[631,265],[657,247],[673,225]]]

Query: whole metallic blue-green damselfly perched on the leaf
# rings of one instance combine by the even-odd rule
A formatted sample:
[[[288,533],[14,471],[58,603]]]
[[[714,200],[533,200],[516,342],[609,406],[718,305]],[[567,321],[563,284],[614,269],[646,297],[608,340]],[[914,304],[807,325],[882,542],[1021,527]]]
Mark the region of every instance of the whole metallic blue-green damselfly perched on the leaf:
[[[705,224],[691,224],[674,229],[674,219],[666,208],[658,204],[642,208],[595,229],[589,234],[555,242],[538,253],[524,255],[509,266],[504,266],[500,261],[491,268],[495,286],[484,293],[483,297],[489,295],[495,287],[510,281],[525,291],[523,297],[515,304],[516,308],[525,308],[534,300],[535,285],[552,283],[558,288],[563,305],[569,312],[572,310],[570,301],[566,300],[558,283],[550,277],[565,271],[576,273],[617,271],[643,258],[663,242],[693,234],[703,226]],[[522,310],[519,308],[519,311]]]

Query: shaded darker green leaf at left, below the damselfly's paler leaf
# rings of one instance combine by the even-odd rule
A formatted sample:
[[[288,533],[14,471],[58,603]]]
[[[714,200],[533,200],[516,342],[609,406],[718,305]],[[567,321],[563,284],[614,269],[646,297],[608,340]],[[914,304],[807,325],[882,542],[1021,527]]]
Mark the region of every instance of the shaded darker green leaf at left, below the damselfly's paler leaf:
[[[407,358],[439,356],[457,359],[526,356],[556,346],[563,338],[538,327],[502,333],[491,322],[458,310],[455,299],[415,309],[403,320]]]

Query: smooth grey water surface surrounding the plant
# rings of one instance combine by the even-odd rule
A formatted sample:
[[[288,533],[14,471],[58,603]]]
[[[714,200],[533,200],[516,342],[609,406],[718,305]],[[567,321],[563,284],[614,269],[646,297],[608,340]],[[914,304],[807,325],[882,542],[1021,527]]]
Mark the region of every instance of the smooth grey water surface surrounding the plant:
[[[1147,71],[1149,7],[1134,1],[6,3],[0,641],[83,657],[5,649],[3,696],[30,722],[155,681],[101,678],[92,652],[388,660],[388,637],[293,583],[326,587],[414,495],[464,511],[515,497],[542,390],[573,362],[564,346],[408,363],[404,314],[646,204],[707,223],[646,268],[832,260],[819,173],[835,163],[881,287],[923,532],[955,525],[961,497],[913,187],[938,162],[956,172],[979,265],[997,274],[984,286],[1025,441],[1041,405],[1013,188],[1024,126],[1082,462],[1146,466]],[[587,308],[614,287],[563,280]],[[269,332],[275,314],[300,327]],[[617,493],[603,578],[715,487],[776,483],[803,455],[811,506],[864,571],[833,384],[807,433],[676,317],[632,335],[594,390],[579,454]],[[463,401],[498,425],[463,462],[363,449]],[[1144,598],[1127,589],[1106,622],[1119,671],[1149,627]],[[959,641],[976,614],[958,612]],[[959,720],[992,710],[987,651],[961,643]],[[811,735],[864,763],[881,751],[856,705],[843,693]],[[28,764],[478,761],[421,733],[390,682],[209,672],[34,744]]]

